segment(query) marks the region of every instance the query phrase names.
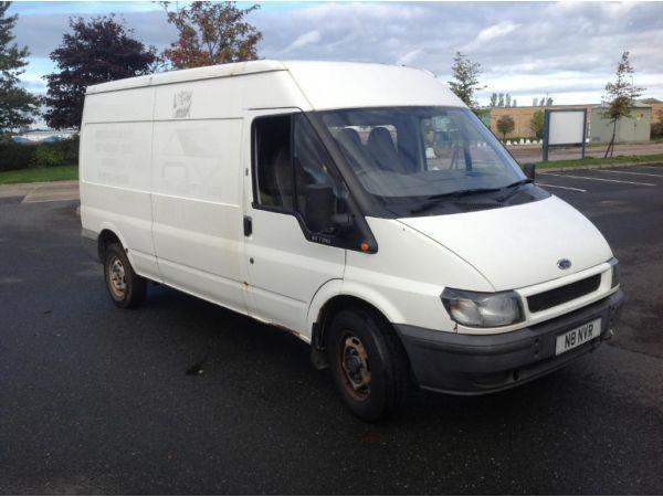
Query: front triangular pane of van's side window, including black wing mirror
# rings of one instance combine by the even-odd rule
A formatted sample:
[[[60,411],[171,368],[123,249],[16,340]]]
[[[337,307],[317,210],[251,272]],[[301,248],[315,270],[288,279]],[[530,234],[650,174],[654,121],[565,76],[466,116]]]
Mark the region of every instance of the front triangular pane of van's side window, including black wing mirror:
[[[333,231],[332,218],[347,213],[347,189],[304,116],[295,117],[294,134],[297,211],[312,232]]]

